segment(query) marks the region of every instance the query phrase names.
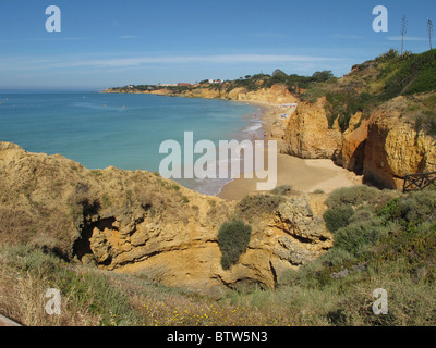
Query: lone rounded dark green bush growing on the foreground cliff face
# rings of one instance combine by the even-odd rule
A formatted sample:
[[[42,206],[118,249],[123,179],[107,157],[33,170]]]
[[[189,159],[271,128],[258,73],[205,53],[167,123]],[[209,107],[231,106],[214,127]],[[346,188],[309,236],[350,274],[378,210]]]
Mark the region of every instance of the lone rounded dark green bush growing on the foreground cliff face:
[[[223,270],[238,262],[240,256],[249,247],[252,227],[240,220],[225,222],[218,232],[218,245],[221,249]]]

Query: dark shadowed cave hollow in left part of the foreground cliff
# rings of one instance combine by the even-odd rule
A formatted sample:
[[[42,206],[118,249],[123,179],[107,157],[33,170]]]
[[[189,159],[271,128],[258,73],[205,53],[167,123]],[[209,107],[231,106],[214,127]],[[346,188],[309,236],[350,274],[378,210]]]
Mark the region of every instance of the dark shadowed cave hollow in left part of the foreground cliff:
[[[98,221],[90,221],[89,219],[85,219],[83,227],[80,232],[81,236],[74,241],[73,245],[73,257],[77,257],[80,261],[85,254],[94,254],[90,248],[90,238],[93,237],[93,233],[95,228],[99,231],[114,229],[118,231],[116,226],[113,226],[116,222],[114,217],[99,219]],[[112,259],[109,257],[105,262],[100,262],[102,265],[109,265],[112,262]]]

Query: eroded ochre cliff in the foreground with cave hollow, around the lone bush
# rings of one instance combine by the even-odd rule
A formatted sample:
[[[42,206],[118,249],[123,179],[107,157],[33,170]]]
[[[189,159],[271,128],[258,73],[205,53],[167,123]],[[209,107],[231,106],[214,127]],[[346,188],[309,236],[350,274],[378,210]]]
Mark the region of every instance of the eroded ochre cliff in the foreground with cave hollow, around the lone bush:
[[[66,260],[201,293],[241,284],[274,288],[283,271],[332,244],[319,195],[283,196],[274,211],[247,216],[249,249],[223,270],[217,234],[237,202],[148,172],[92,171],[9,142],[0,142],[0,186],[1,243],[32,244]]]

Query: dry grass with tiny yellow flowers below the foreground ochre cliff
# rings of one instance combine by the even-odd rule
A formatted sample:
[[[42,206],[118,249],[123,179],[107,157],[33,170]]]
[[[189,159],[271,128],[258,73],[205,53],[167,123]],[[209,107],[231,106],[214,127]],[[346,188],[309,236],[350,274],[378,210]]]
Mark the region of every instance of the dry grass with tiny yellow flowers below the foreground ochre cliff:
[[[60,315],[45,311],[49,288],[61,290]],[[318,301],[310,299],[323,297],[298,293],[229,291],[217,301],[133,275],[72,265],[26,246],[0,250],[0,312],[31,326],[327,324],[316,318]]]

